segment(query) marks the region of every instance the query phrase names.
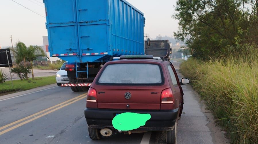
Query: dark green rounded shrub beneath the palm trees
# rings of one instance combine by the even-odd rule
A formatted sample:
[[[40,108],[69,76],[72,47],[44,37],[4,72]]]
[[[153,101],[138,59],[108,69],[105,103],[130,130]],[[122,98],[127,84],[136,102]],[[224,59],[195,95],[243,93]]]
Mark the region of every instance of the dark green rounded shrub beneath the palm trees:
[[[24,67],[23,65],[18,65],[17,67],[12,68],[11,72],[16,73],[21,80],[27,80],[29,78],[28,74],[31,73],[30,69],[30,66]]]

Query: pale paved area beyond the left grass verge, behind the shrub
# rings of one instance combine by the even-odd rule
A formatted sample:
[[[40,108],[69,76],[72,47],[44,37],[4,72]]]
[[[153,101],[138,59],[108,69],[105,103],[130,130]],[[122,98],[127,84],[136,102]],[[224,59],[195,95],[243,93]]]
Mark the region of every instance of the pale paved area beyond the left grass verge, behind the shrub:
[[[7,81],[10,81],[11,77],[10,77],[9,68],[8,67],[0,67],[0,69],[3,72],[5,72],[6,75],[9,77],[7,79]],[[34,72],[34,77],[48,77],[48,76],[55,75],[57,73],[57,71],[55,71],[55,70],[41,70],[41,69],[33,69],[33,72]],[[11,73],[11,74],[12,74],[13,80],[20,79],[15,73]],[[28,76],[32,77],[32,74],[30,73]]]

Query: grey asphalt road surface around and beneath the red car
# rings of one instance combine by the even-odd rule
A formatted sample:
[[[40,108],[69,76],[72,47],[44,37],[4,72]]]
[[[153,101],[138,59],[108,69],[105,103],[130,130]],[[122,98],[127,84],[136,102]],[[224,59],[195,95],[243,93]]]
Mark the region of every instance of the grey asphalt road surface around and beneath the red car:
[[[175,67],[178,69],[178,63]],[[180,75],[181,77],[181,75]],[[179,144],[227,143],[190,85],[183,86],[184,109],[178,124]],[[84,108],[85,92],[50,85],[0,97],[1,144],[165,143],[164,132],[115,133],[92,141]]]

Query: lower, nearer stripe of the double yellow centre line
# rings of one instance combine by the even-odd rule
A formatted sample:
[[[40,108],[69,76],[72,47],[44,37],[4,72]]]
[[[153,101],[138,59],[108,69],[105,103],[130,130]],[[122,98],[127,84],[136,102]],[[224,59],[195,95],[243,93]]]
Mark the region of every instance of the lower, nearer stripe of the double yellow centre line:
[[[76,100],[70,102],[70,103],[67,103],[67,104],[62,105],[62,106],[60,106],[60,107],[57,107],[57,108],[55,108],[55,109],[52,109],[51,111],[48,111],[48,112],[46,112],[46,113],[43,113],[43,114],[41,114],[41,115],[38,115],[37,117],[34,117],[34,118],[30,119],[30,120],[27,120],[27,121],[25,121],[25,122],[22,122],[22,123],[20,123],[20,124],[18,124],[18,125],[16,125],[16,126],[13,126],[13,127],[11,127],[11,128],[8,128],[8,129],[6,129],[6,130],[0,132],[0,135],[4,134],[4,133],[6,133],[6,132],[9,132],[10,130],[13,130],[13,129],[15,129],[15,128],[18,128],[18,127],[20,127],[20,126],[22,126],[22,125],[24,125],[24,124],[27,124],[27,123],[29,123],[29,122],[32,122],[33,120],[36,120],[36,119],[38,119],[38,118],[41,118],[41,117],[43,117],[44,115],[47,115],[47,114],[49,114],[49,113],[52,113],[52,112],[54,112],[54,111],[56,111],[56,110],[58,110],[58,109],[61,109],[61,108],[63,108],[63,107],[66,107],[66,106],[68,106],[68,105],[70,105],[70,104],[72,104],[72,103],[75,103],[76,101],[80,101],[81,99],[86,98],[86,97],[87,97],[87,96],[83,96],[83,97],[81,97],[81,98],[78,98],[78,99],[76,99]]]

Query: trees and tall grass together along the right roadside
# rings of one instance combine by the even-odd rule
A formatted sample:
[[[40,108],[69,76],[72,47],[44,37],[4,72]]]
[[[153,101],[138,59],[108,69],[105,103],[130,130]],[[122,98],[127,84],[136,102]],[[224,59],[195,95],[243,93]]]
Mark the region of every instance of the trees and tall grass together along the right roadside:
[[[174,18],[193,58],[180,71],[232,143],[258,143],[258,1],[178,0]]]

